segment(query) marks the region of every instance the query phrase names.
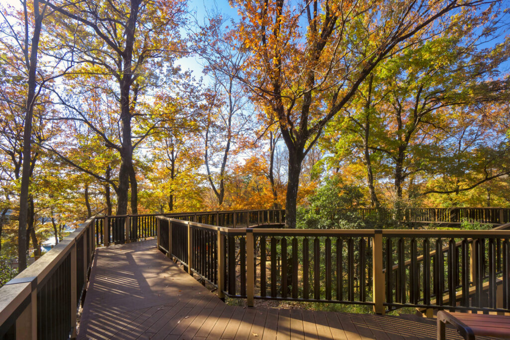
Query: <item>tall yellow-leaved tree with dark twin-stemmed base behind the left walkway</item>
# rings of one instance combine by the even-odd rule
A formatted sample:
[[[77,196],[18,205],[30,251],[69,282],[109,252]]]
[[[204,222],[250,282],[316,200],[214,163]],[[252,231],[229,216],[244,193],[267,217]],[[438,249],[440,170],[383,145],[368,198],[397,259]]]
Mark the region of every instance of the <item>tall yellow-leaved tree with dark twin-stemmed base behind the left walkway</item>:
[[[162,121],[140,110],[139,102],[147,99],[151,88],[171,82],[176,74],[172,63],[185,50],[179,28],[184,23],[186,2],[44,3],[60,14],[54,16],[55,28],[59,30],[53,33],[54,37],[61,39],[63,49],[78,50],[72,56],[77,65],[74,75],[99,79],[105,84],[100,89],[118,104],[118,141],[108,138],[78,102],[69,103],[64,96],[59,96],[60,104],[68,109],[69,115],[61,119],[77,120],[89,126],[108,147],[119,153],[117,214],[127,213],[130,186],[131,212],[137,214],[133,154]],[[65,32],[60,32],[61,28]]]

